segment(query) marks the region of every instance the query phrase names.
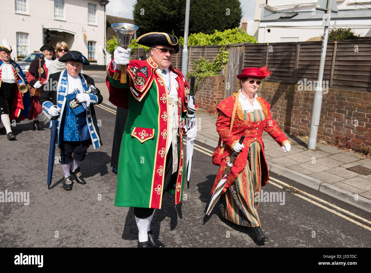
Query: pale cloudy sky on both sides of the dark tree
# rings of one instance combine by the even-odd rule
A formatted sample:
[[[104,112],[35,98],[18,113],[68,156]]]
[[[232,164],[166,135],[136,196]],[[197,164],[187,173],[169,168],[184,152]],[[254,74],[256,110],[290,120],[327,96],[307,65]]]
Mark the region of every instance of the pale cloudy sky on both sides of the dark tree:
[[[242,19],[247,19],[247,33],[252,35],[254,28],[254,13],[256,0],[240,0]],[[136,0],[109,0],[106,6],[108,15],[133,19],[132,9]],[[241,21],[242,22],[242,21]]]

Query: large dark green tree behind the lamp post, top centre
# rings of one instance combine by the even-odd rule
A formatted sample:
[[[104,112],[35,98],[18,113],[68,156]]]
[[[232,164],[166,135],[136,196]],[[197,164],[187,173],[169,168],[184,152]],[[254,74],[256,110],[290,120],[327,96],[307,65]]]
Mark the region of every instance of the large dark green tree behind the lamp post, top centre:
[[[167,32],[184,36],[186,0],[137,0],[134,4],[134,23],[138,34]],[[190,3],[189,33],[214,33],[239,27],[242,9],[239,0],[192,0]]]

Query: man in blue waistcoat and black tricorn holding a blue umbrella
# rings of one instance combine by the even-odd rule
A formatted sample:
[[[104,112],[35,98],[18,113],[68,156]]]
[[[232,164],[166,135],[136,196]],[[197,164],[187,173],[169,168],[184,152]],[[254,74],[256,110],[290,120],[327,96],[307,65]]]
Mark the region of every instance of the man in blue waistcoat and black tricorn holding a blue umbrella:
[[[43,111],[58,117],[57,146],[65,174],[63,188],[72,190],[72,175],[79,184],[86,183],[79,166],[89,144],[94,149],[102,145],[93,105],[101,103],[103,97],[94,87],[94,80],[80,73],[83,64],[89,65],[81,52],[70,51],[59,61],[66,63],[66,69],[50,75],[39,102]]]

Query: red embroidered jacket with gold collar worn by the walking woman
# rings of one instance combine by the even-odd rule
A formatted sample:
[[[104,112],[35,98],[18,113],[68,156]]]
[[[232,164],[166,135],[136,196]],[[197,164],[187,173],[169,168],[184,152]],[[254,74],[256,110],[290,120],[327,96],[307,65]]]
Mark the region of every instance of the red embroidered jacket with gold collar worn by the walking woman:
[[[247,155],[249,153],[249,145],[252,144],[254,141],[257,141],[260,144],[260,147],[262,148],[261,152],[263,154],[263,157],[260,156],[260,158],[264,158],[264,162],[260,162],[261,184],[262,186],[265,186],[267,184],[267,182],[269,181],[269,171],[268,164],[265,159],[264,143],[262,139],[264,131],[266,131],[280,146],[285,145],[286,142],[289,142],[291,144],[291,142],[286,138],[285,134],[277,125],[277,122],[272,118],[272,113],[270,112],[270,104],[265,99],[261,98],[260,96],[257,96],[256,98],[257,101],[260,103],[260,106],[262,106],[265,119],[263,121],[254,122],[246,120],[244,118],[244,114],[242,111],[242,107],[238,101],[238,97],[238,92],[233,93],[232,96],[224,99],[217,106],[219,116],[216,121],[216,131],[219,133],[223,143],[226,143],[223,158],[229,157],[232,154],[232,149],[230,147],[233,147],[234,144],[239,141],[242,135],[245,136],[245,139],[243,141],[244,148],[242,148],[240,154],[233,164],[231,173],[229,174],[222,193],[226,191],[227,187],[234,183],[239,173],[245,168],[247,164]],[[233,106],[236,102],[239,105],[237,106],[236,114],[234,116],[232,131],[230,131]],[[214,193],[216,185],[220,181],[226,165],[227,162],[226,159],[224,159],[216,175],[211,194]]]

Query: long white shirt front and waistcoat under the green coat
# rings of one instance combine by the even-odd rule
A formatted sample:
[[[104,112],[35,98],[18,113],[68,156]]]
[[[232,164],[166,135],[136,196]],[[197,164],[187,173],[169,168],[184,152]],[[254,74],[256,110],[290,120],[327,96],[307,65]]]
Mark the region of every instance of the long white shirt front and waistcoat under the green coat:
[[[168,104],[168,118],[169,118],[169,132],[167,139],[167,151],[170,149],[170,145],[173,145],[173,172],[177,171],[178,167],[178,132],[179,132],[179,120],[178,120],[178,82],[177,74],[167,69],[166,75],[161,73],[162,69],[156,69],[158,74],[161,76],[162,82],[165,83],[166,92],[170,86],[170,93],[168,93],[168,98],[173,99],[172,104]],[[170,72],[170,73],[169,73]]]

